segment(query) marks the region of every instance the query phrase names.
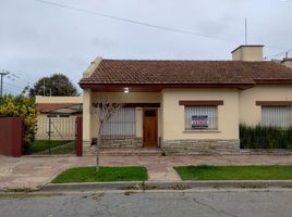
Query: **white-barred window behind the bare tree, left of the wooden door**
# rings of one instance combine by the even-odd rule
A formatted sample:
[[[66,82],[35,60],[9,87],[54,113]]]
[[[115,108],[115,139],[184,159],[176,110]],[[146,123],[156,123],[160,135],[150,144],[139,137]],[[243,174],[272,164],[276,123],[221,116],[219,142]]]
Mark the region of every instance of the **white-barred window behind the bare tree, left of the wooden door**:
[[[136,135],[136,110],[134,107],[123,107],[114,113],[105,123],[102,136],[135,136]]]

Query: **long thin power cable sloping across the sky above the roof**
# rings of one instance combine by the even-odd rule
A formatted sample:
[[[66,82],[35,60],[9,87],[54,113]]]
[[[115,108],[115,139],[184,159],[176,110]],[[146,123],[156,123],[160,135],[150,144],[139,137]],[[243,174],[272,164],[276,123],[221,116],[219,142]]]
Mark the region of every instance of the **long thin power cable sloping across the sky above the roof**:
[[[66,4],[46,1],[46,0],[34,0],[34,1],[39,2],[39,3],[44,3],[44,4],[48,4],[48,5],[52,5],[52,7],[58,7],[58,8],[62,8],[62,9],[68,9],[68,10],[72,10],[72,11],[77,11],[77,12],[82,12],[82,13],[97,15],[97,16],[101,16],[101,17],[106,17],[106,18],[110,18],[110,20],[115,20],[119,22],[124,22],[124,23],[146,26],[146,27],[150,27],[150,28],[156,28],[156,29],[160,29],[160,30],[167,30],[167,31],[184,34],[184,35],[192,35],[192,36],[197,36],[197,37],[203,37],[203,38],[209,38],[212,40],[220,40],[220,41],[224,41],[224,42],[230,42],[230,43],[241,43],[242,42],[242,41],[238,41],[238,40],[235,41],[235,40],[226,39],[226,38],[212,37],[212,36],[198,34],[198,33],[194,33],[194,31],[190,31],[190,30],[178,29],[178,28],[160,26],[160,25],[155,25],[155,24],[139,22],[139,21],[134,21],[134,20],[130,20],[130,18],[123,18],[123,17],[119,17],[119,16],[108,15],[108,14],[100,13],[100,12],[94,12],[94,11],[89,11],[86,9],[80,9],[80,8],[75,8],[75,7],[71,7],[71,5],[66,5]],[[279,47],[272,47],[272,46],[267,46],[267,47],[276,48],[276,49],[283,49],[283,48],[279,48]]]

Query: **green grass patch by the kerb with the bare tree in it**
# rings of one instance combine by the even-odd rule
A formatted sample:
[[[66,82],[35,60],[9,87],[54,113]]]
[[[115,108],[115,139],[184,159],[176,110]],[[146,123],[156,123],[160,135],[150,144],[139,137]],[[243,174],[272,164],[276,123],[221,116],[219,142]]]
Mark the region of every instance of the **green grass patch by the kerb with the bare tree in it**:
[[[71,168],[58,175],[52,183],[66,182],[101,182],[101,181],[145,181],[148,179],[147,169],[139,166]]]

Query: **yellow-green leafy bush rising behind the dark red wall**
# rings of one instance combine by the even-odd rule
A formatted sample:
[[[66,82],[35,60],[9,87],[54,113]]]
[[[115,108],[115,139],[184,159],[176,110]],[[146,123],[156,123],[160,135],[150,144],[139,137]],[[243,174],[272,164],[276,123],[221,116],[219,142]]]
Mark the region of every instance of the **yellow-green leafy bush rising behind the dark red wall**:
[[[0,102],[0,116],[22,117],[24,120],[24,145],[34,142],[37,127],[35,99],[20,95],[4,95]]]

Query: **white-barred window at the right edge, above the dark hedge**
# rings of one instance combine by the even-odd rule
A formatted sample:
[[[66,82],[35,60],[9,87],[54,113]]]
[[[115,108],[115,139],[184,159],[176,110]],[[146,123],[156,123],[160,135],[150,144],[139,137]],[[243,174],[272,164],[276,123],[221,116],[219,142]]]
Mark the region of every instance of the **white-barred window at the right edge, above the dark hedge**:
[[[287,128],[291,125],[290,106],[261,106],[261,125]]]

